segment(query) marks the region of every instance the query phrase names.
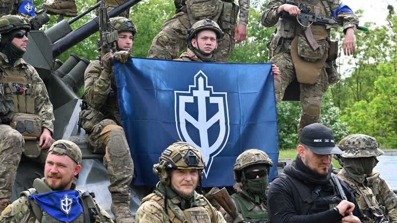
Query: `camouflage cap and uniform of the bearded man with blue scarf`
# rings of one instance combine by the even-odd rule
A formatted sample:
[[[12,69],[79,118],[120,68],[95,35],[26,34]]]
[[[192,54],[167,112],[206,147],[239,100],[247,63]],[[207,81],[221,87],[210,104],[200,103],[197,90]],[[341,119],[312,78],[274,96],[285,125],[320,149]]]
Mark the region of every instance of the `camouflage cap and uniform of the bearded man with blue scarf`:
[[[60,145],[60,146],[59,146]],[[57,153],[61,156],[68,156],[71,160],[73,160],[77,165],[81,164],[82,154],[80,148],[74,144],[73,142],[67,140],[58,140],[56,141],[48,150],[52,153]],[[72,174],[72,172],[69,172]],[[42,194],[53,191],[45,182],[45,178],[37,178],[33,182],[33,188],[28,189],[27,191],[23,191],[20,194],[19,199],[10,204],[0,216],[0,223],[62,223],[60,220],[54,218],[49,215],[43,208],[40,207],[39,203],[34,201],[33,198],[29,198],[30,194]],[[74,183],[71,184],[70,190],[77,190],[76,185]],[[83,190],[77,190],[79,193],[79,201],[80,205],[82,205],[83,200],[87,200],[87,198],[83,199],[82,194],[85,192]],[[54,199],[55,200],[55,199]],[[88,198],[89,201],[92,201],[93,204],[87,202],[86,205],[88,208],[92,208],[90,205],[94,205],[98,210],[99,215],[96,216],[97,223],[113,223],[112,218],[109,214],[103,210],[96,202],[92,199],[92,197]],[[47,200],[48,202],[48,200]],[[85,202],[84,202],[85,203]],[[33,207],[33,206],[36,207]],[[54,204],[55,206],[61,207],[61,204]],[[82,205],[83,206],[83,205]],[[37,209],[35,209],[37,208]],[[38,213],[38,209],[40,208],[41,216],[36,216]],[[88,216],[91,213],[85,213]],[[83,211],[70,223],[82,223],[85,222],[84,208]]]

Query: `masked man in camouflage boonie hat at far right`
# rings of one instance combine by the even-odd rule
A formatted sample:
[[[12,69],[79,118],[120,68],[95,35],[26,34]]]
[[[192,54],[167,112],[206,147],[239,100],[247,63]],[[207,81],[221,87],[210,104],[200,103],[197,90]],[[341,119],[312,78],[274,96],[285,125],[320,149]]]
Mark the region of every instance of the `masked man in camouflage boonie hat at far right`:
[[[397,222],[397,196],[374,170],[378,156],[384,154],[374,137],[354,134],[344,143],[343,169],[337,176],[355,190],[355,197],[366,223]]]

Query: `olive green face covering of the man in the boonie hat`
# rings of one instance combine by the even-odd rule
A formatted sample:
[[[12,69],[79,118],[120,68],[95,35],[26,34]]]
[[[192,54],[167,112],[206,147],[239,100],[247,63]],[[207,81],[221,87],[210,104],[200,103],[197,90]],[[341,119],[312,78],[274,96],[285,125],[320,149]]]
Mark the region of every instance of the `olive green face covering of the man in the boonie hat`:
[[[355,181],[362,183],[378,164],[376,157],[345,158],[343,168]]]

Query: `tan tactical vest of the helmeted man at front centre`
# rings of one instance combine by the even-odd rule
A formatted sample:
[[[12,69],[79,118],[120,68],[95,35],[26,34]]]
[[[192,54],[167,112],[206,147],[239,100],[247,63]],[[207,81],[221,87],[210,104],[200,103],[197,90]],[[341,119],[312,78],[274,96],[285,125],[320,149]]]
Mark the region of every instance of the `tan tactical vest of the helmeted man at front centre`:
[[[151,193],[142,199],[141,205],[149,200],[156,201],[161,207],[164,207],[164,195],[158,191]],[[196,195],[196,201],[200,206],[181,210],[178,205],[167,201],[168,218],[172,223],[212,223],[216,222],[213,218],[216,214],[211,209],[211,204],[202,195]],[[208,211],[207,208],[211,211]]]

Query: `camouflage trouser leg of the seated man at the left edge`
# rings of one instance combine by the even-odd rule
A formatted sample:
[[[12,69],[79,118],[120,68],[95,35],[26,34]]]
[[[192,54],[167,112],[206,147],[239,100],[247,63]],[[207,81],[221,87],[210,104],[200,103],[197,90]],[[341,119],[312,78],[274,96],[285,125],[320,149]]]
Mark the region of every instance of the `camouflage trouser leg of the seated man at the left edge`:
[[[0,125],[0,198],[10,198],[25,141],[17,130]]]

